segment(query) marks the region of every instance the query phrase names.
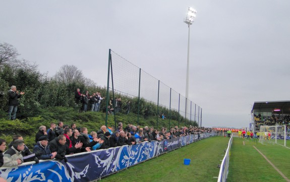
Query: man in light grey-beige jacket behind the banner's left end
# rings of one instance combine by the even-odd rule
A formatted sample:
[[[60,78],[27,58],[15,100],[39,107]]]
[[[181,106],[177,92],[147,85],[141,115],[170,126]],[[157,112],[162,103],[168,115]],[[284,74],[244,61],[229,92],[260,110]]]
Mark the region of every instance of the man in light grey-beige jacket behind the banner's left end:
[[[4,152],[3,167],[18,166],[23,163],[22,151],[24,150],[24,141],[15,140],[13,146]]]

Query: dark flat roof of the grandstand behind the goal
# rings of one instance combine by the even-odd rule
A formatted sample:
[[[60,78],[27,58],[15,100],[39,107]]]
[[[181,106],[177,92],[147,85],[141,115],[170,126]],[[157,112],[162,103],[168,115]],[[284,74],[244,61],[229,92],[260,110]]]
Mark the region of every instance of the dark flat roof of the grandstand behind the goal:
[[[274,111],[274,109],[280,109],[280,111]],[[273,112],[276,114],[290,114],[290,101],[262,101],[254,102],[252,112],[261,111],[261,112]]]

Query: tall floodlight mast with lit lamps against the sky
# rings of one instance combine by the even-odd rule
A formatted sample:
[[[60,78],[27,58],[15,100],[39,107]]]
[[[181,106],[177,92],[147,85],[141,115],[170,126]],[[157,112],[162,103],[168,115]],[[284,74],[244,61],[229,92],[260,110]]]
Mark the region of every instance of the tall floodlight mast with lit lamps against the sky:
[[[196,10],[188,8],[188,13],[184,19],[184,23],[188,24],[188,46],[187,46],[187,68],[186,68],[186,91],[185,97],[188,99],[188,82],[189,82],[189,37],[190,37],[190,25],[193,23],[193,19],[196,17]]]

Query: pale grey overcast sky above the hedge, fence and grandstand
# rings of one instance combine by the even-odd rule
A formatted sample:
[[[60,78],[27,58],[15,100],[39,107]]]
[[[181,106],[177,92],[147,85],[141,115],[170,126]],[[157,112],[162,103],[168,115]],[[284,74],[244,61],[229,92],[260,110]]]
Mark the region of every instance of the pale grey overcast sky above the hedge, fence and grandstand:
[[[185,95],[205,127],[248,127],[255,101],[289,100],[290,1],[4,1],[0,41],[53,76],[75,65],[106,85],[108,49]]]

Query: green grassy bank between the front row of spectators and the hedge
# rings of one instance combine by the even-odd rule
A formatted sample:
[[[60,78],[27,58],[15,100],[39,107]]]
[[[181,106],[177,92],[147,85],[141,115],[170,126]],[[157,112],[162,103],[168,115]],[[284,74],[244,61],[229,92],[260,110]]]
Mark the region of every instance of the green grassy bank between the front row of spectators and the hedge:
[[[3,115],[6,115],[3,113]],[[139,117],[139,125],[153,126],[156,128],[157,116],[149,117],[144,120],[143,116]],[[89,132],[98,131],[102,125],[105,125],[105,113],[103,112],[78,112],[73,108],[67,107],[52,107],[41,109],[38,116],[28,117],[25,119],[7,120],[6,117],[0,119],[0,138],[3,138],[10,143],[14,135],[22,135],[25,144],[32,150],[35,143],[35,134],[38,132],[38,128],[41,125],[46,126],[46,129],[50,127],[50,123],[62,121],[64,125],[71,126],[72,123],[76,123],[78,127],[86,127]],[[116,123],[122,122],[126,127],[128,124],[137,125],[137,115],[134,113],[116,114]],[[184,122],[180,123],[180,127],[184,126]],[[114,115],[108,116],[108,127],[114,126]],[[170,126],[177,126],[176,120],[170,120]],[[169,127],[169,120],[158,118],[158,128]]]

